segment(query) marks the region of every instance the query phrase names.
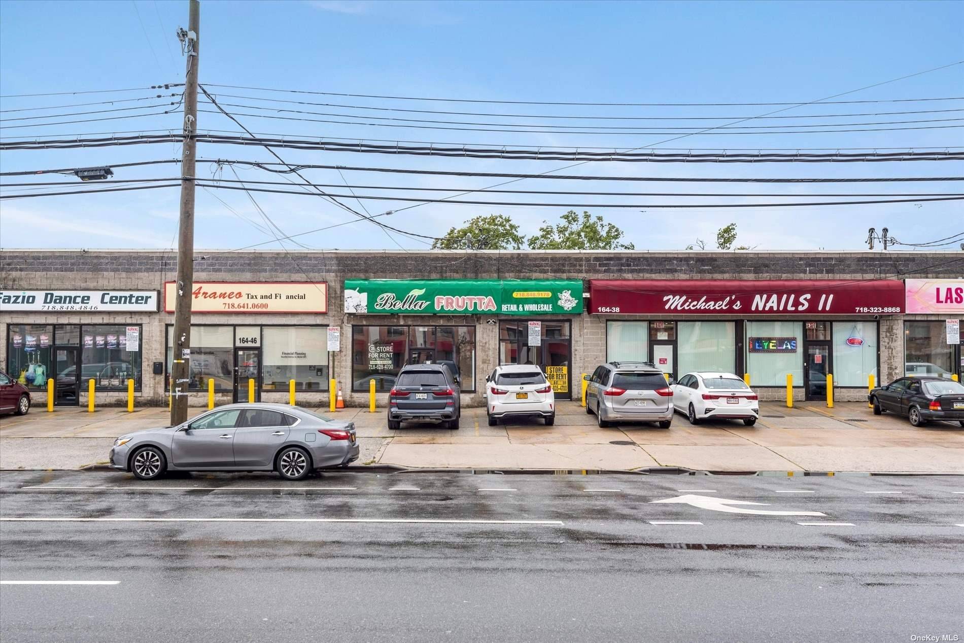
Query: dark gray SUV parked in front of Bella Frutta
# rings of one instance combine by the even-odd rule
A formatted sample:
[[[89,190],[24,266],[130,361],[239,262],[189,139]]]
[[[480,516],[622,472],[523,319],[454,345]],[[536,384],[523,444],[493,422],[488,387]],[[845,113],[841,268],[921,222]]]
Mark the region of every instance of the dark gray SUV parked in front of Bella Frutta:
[[[462,415],[460,392],[448,366],[402,366],[395,386],[388,392],[388,428],[400,429],[403,421],[415,419],[442,422],[447,429],[457,429]]]

